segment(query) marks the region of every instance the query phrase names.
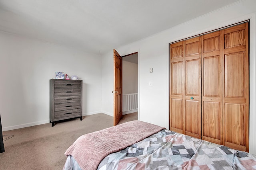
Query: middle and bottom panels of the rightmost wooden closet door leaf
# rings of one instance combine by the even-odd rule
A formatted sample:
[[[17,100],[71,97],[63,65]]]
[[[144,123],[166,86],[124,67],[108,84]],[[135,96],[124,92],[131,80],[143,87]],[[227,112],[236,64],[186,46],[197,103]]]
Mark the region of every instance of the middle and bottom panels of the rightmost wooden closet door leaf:
[[[248,94],[246,52],[225,55],[225,138],[224,145],[247,151]],[[247,64],[245,64],[247,63]]]

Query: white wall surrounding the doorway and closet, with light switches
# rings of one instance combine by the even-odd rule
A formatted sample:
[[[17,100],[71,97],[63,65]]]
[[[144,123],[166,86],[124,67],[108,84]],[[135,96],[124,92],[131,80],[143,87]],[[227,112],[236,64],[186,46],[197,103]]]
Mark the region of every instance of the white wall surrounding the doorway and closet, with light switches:
[[[255,6],[255,0],[242,0],[141,41],[116,48],[121,56],[139,51],[138,119],[169,129],[169,43],[250,19],[249,151],[256,154],[256,134],[254,133],[256,129]],[[113,52],[110,51],[104,55],[102,60],[103,65],[109,63],[108,67],[102,66],[102,73],[108,77],[108,81],[104,82],[106,92],[102,91],[102,103],[108,104],[103,104],[102,110],[113,115],[113,100],[110,100],[112,95],[108,93],[113,88]],[[150,67],[153,67],[153,73],[149,73]],[[149,81],[152,81],[152,87],[148,86]]]

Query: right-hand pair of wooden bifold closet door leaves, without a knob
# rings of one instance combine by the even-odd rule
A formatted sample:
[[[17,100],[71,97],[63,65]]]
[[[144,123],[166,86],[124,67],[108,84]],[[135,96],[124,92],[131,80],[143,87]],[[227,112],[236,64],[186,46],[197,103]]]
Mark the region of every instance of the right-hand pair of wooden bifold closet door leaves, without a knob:
[[[202,139],[249,151],[248,23],[202,36]]]

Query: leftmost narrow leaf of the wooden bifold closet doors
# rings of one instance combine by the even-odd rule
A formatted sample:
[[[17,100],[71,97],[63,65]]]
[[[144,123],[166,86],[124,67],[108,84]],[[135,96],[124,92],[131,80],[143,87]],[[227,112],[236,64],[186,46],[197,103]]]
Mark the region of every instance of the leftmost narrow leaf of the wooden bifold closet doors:
[[[184,133],[184,43],[170,44],[170,130]]]

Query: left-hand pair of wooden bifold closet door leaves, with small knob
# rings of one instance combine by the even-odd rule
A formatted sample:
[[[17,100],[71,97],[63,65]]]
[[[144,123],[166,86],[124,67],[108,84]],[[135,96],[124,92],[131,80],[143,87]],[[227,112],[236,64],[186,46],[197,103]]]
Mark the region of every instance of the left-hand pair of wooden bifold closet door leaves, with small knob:
[[[170,45],[170,129],[201,137],[200,37]]]

